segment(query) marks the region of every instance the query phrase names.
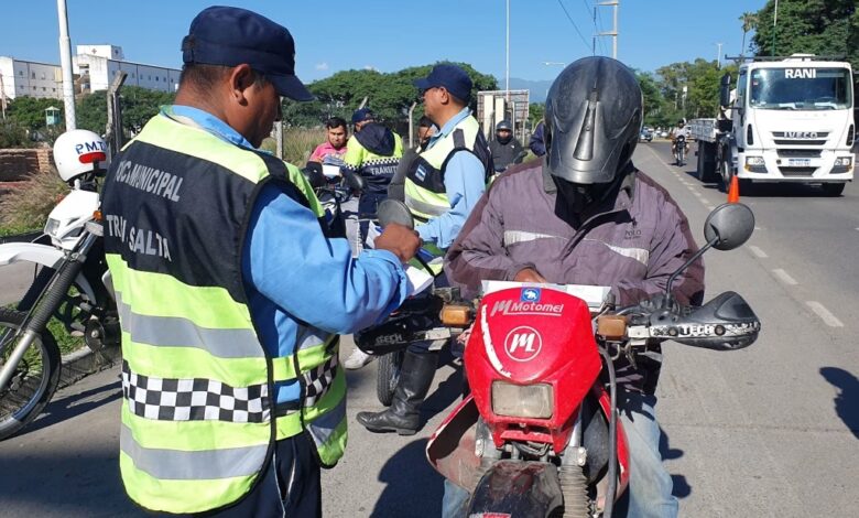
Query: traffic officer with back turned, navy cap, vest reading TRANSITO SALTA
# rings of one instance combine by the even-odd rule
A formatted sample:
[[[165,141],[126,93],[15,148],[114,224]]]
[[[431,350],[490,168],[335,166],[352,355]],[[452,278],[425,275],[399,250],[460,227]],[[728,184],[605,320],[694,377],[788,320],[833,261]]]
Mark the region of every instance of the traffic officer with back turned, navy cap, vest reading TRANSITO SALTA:
[[[161,512],[320,516],[346,446],[338,334],[405,298],[412,230],[352,259],[298,170],[258,151],[280,96],[312,98],[289,31],[214,7],[182,43],[176,104],[117,158],[105,248],[122,326],[120,468]]]

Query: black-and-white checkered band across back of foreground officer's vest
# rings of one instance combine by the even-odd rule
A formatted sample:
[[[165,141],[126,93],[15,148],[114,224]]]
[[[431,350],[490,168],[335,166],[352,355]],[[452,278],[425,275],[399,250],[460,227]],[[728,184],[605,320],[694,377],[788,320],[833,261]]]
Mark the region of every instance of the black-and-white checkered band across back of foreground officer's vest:
[[[269,387],[230,387],[213,379],[155,378],[132,373],[122,361],[122,396],[132,413],[161,421],[269,420]]]

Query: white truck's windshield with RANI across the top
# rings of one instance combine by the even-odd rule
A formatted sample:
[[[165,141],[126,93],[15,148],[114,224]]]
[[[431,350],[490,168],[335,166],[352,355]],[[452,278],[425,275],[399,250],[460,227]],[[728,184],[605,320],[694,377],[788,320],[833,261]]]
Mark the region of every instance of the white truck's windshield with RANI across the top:
[[[749,90],[752,108],[840,110],[853,105],[847,68],[758,68]]]

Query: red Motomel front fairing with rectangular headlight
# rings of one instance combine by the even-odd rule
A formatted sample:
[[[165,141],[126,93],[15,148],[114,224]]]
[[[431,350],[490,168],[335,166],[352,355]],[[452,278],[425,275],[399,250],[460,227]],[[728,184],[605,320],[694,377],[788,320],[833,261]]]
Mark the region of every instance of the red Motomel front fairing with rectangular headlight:
[[[536,441],[562,451],[601,368],[588,305],[539,287],[489,293],[478,309],[465,365],[498,446]]]

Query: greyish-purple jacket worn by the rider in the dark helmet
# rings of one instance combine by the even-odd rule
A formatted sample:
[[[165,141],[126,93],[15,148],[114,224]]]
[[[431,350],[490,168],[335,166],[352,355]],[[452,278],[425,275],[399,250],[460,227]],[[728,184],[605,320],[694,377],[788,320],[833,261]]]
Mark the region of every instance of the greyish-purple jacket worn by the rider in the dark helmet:
[[[579,223],[563,216],[542,164],[529,162],[501,175],[450,247],[445,271],[466,294],[476,294],[481,280],[513,280],[533,268],[550,282],[611,287],[618,305],[629,305],[663,292],[668,277],[697,251],[681,208],[634,168],[618,195]],[[677,277],[672,293],[683,304],[702,302],[700,259]],[[654,363],[639,363],[638,373],[619,365],[619,382],[652,392],[661,359],[659,347],[653,353]]]

